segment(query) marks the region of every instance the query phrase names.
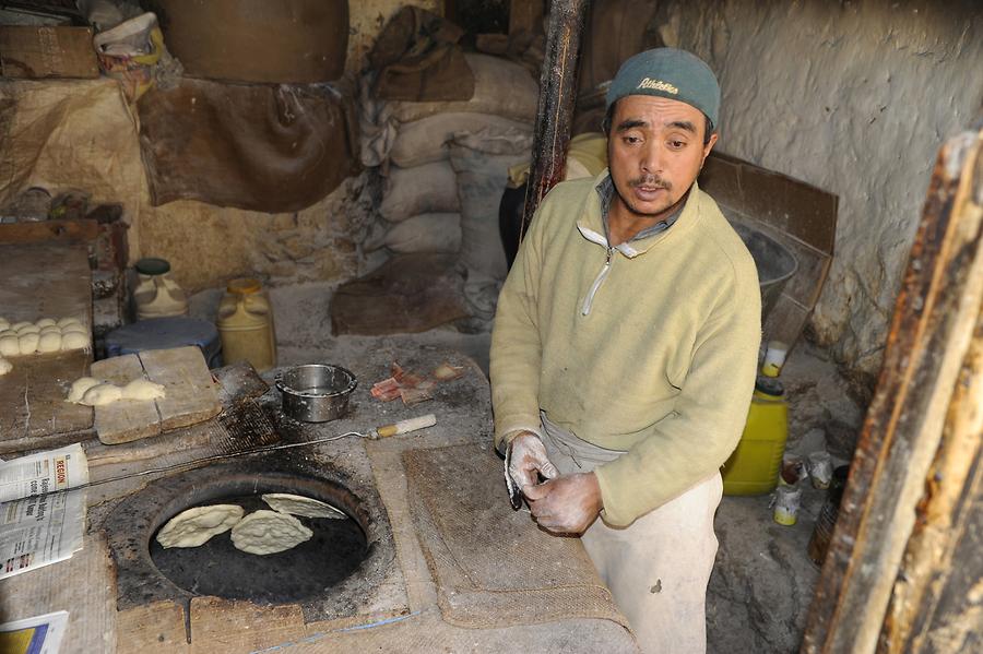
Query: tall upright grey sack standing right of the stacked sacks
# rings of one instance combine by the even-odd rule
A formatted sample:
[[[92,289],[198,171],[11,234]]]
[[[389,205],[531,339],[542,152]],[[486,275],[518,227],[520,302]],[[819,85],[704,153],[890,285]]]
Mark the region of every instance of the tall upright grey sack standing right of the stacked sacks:
[[[450,160],[461,200],[461,263],[467,270],[464,296],[472,314],[490,318],[498,287],[508,272],[498,233],[498,204],[509,167],[529,158],[528,131],[484,129],[460,132],[451,142]]]

